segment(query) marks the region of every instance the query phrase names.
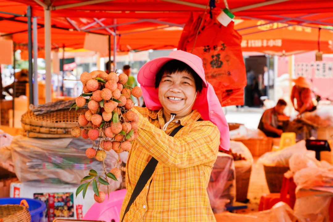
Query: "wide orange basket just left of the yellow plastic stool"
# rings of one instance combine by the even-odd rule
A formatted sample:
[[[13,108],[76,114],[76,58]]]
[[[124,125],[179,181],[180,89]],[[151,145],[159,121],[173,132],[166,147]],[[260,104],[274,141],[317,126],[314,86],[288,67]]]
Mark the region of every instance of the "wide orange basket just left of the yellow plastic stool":
[[[267,137],[264,139],[235,139],[242,142],[251,152],[252,156],[261,156],[272,150],[273,139]]]

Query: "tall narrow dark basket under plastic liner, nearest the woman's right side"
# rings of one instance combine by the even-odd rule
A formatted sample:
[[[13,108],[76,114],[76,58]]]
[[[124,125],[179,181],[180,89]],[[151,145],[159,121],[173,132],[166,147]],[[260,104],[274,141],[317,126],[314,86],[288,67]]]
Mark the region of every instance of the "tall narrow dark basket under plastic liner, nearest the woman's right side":
[[[240,172],[237,167],[236,170],[236,201],[247,202],[247,192],[250,183],[250,176],[252,167],[245,172]]]

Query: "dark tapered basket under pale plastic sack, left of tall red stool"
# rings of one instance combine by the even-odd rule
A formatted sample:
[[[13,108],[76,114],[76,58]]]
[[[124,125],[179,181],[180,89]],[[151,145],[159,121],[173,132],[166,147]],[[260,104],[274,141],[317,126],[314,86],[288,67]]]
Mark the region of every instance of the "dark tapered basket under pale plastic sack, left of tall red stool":
[[[288,166],[265,166],[265,177],[269,192],[280,193],[283,174],[289,170]]]

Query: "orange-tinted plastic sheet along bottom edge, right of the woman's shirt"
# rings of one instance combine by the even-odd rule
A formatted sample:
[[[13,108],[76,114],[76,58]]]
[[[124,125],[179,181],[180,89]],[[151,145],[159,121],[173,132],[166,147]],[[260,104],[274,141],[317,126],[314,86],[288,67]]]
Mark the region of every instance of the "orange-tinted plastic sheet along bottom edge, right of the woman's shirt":
[[[216,221],[223,222],[296,222],[293,210],[284,202],[278,202],[272,209],[249,214],[224,212],[215,214]]]

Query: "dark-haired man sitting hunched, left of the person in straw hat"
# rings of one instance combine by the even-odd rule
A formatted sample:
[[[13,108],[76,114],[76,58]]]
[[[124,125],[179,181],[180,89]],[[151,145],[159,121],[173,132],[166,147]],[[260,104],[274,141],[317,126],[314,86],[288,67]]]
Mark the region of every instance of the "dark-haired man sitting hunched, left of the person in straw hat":
[[[283,121],[288,119],[283,113],[286,106],[286,101],[280,99],[275,107],[264,111],[259,121],[258,129],[269,137],[280,137],[283,133]]]

